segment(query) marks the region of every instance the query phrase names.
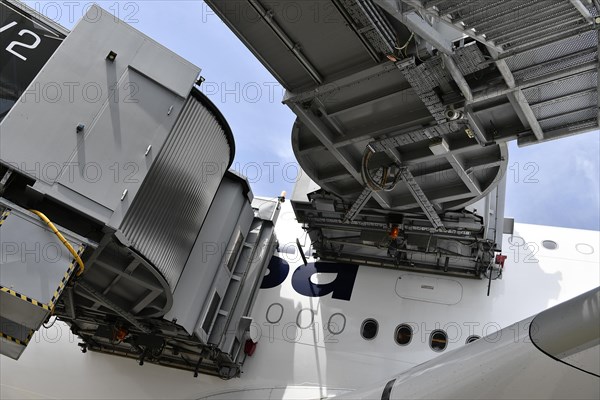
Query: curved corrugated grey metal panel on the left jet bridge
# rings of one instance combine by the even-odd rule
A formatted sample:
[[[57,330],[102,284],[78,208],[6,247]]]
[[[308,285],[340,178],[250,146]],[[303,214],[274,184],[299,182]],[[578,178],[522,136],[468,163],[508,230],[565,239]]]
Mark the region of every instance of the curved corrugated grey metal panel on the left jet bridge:
[[[190,96],[121,224],[132,247],[175,288],[231,147],[218,118]]]

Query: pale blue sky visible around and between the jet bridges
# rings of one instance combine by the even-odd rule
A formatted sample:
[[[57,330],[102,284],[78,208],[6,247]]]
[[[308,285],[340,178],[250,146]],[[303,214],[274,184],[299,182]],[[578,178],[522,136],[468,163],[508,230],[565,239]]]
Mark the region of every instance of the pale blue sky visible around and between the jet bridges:
[[[26,1],[72,28],[88,2]],[[255,194],[291,194],[298,174],[294,115],[283,88],[201,1],[98,1],[152,39],[202,68],[204,92],[236,140],[233,167]],[[600,230],[598,132],[525,148],[510,144],[506,212],[517,222]]]

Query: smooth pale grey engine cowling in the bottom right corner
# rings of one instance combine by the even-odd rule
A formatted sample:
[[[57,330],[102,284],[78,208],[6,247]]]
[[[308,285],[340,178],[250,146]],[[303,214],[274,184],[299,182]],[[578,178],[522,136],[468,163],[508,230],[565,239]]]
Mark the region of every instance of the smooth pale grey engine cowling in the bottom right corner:
[[[600,294],[595,291],[586,298],[594,304],[579,303],[579,310],[595,308],[597,321]],[[554,314],[552,320],[560,319],[562,311],[550,310]],[[525,319],[504,329],[499,340],[479,339],[364,390],[342,395],[340,400],[380,399],[388,382],[393,382],[388,398],[394,400],[600,398],[597,375],[558,361],[534,346],[529,326],[552,328],[548,324],[539,325],[536,320],[537,317]],[[518,334],[513,336],[511,332]],[[597,360],[597,346],[580,355],[586,364],[593,358]]]

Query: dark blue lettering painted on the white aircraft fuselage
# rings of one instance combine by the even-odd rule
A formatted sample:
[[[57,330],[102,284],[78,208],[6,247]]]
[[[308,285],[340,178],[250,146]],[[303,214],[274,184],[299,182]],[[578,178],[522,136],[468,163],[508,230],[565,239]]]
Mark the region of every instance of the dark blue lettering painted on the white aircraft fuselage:
[[[274,256],[269,262],[269,273],[263,278],[261,289],[279,286],[290,272],[289,264],[280,257]],[[310,278],[317,273],[335,273],[336,278],[325,284],[313,283]],[[358,265],[344,263],[314,262],[301,265],[292,275],[292,287],[301,295],[322,297],[332,294],[332,298],[349,301],[358,273]]]

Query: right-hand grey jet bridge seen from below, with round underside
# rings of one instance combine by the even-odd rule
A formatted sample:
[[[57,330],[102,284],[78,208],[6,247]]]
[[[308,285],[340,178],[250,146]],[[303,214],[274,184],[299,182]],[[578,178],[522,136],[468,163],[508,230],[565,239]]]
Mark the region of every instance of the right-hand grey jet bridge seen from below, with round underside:
[[[324,259],[498,276],[507,142],[598,129],[596,0],[207,3],[287,90]]]

